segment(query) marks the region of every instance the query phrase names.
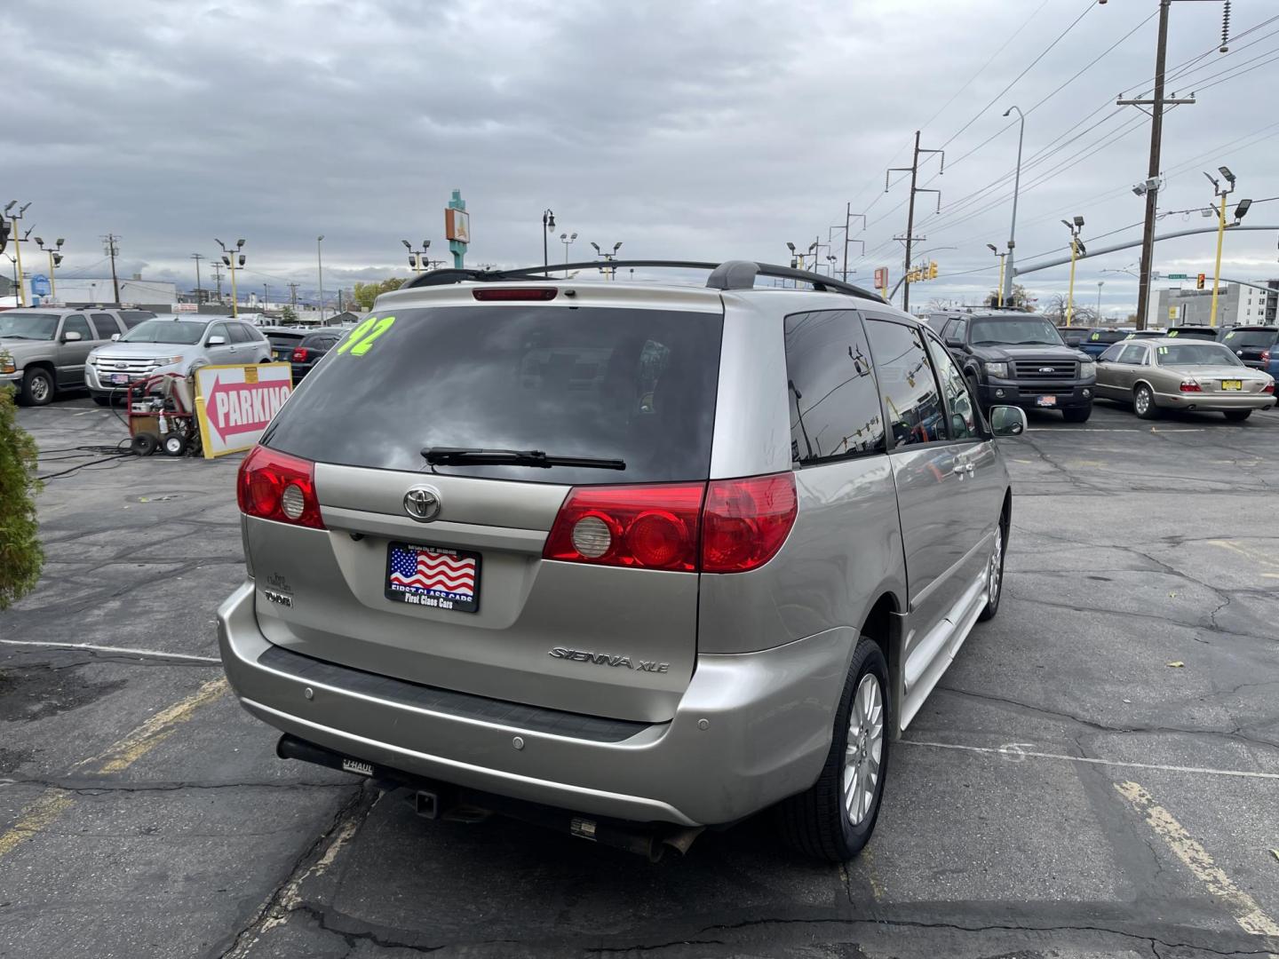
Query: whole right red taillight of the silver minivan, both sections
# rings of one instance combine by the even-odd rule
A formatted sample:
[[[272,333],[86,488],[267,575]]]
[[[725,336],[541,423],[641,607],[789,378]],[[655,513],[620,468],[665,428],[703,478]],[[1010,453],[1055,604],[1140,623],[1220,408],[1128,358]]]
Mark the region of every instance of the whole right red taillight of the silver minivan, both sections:
[[[544,559],[683,573],[744,573],[773,559],[794,526],[794,474],[569,492]]]

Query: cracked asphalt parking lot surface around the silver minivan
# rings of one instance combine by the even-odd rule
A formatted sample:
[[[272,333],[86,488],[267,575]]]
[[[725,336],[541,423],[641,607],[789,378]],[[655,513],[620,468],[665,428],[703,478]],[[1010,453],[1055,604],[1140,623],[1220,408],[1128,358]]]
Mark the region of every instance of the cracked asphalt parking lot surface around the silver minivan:
[[[87,399],[19,418],[46,474],[124,435]],[[45,578],[0,614],[0,956],[1279,951],[1279,413],[1031,427],[1000,614],[848,868],[766,817],[654,866],[276,760],[214,659],[237,463],[50,480]]]

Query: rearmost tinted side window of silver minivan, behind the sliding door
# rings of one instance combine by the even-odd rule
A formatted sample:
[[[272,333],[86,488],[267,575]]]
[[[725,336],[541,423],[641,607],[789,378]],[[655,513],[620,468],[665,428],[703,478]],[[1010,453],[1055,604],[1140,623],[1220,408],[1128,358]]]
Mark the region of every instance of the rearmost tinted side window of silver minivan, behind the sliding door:
[[[883,453],[884,416],[857,315],[833,309],[788,316],[785,345],[792,462]]]

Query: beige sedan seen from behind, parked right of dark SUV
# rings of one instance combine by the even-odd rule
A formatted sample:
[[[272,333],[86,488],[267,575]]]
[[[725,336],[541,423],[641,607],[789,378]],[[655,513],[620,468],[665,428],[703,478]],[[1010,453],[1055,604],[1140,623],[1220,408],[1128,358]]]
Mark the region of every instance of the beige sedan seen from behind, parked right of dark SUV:
[[[1275,404],[1275,381],[1221,343],[1163,338],[1117,343],[1097,358],[1097,395],[1132,403],[1142,419],[1161,409],[1220,412],[1232,422]]]

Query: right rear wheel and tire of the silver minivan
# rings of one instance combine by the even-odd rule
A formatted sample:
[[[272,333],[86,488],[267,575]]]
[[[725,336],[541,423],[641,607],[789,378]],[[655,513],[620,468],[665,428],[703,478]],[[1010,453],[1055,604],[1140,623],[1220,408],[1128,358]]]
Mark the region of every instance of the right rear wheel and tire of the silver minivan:
[[[848,666],[821,774],[776,809],[783,839],[804,855],[847,862],[870,841],[888,775],[890,689],[884,653],[863,635]]]

